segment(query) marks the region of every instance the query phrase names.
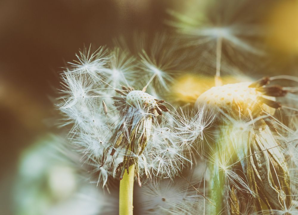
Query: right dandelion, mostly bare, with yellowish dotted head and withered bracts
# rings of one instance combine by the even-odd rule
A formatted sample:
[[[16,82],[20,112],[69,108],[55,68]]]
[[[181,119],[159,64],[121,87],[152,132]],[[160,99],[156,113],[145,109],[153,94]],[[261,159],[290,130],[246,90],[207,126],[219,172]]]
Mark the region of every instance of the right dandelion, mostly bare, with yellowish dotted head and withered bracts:
[[[214,128],[219,135],[206,155],[213,158],[210,190],[217,213],[224,207],[219,187],[226,190],[230,214],[243,213],[241,199],[247,196],[255,211],[264,207],[283,211],[291,205],[289,170],[282,153],[288,141],[279,132],[289,130],[274,117],[277,110],[287,108],[276,98],[288,90],[268,86],[270,80],[274,78],[213,87],[197,99],[197,105],[219,111]]]

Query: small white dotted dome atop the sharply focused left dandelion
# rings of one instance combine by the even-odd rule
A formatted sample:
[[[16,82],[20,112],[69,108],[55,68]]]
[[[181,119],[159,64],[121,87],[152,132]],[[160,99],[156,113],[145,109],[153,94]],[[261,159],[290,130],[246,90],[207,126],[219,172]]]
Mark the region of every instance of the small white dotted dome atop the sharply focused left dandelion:
[[[134,107],[139,107],[140,105],[152,105],[155,106],[157,103],[154,100],[156,99],[154,96],[151,96],[148,93],[145,93],[140,90],[133,90],[129,92],[126,96],[126,104],[134,106]],[[142,106],[141,106],[142,107]]]

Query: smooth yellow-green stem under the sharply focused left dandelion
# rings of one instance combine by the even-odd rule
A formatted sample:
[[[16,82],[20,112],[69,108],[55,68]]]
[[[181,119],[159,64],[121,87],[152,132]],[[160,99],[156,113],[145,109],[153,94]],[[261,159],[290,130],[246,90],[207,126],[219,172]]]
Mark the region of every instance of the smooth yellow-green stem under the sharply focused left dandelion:
[[[134,164],[124,172],[119,187],[119,215],[133,215]]]

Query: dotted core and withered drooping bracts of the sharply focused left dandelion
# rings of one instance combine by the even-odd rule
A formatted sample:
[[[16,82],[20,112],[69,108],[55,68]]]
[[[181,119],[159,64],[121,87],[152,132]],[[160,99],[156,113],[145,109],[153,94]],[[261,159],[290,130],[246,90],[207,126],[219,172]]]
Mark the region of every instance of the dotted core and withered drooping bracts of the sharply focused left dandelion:
[[[135,156],[144,151],[156,116],[162,115],[162,112],[167,112],[168,109],[162,104],[164,100],[156,99],[143,91],[123,87],[118,92],[125,96],[114,97],[115,106],[121,111],[123,119],[111,137],[115,143],[111,155],[114,154],[115,148],[122,146],[125,146],[127,151],[131,151],[131,154],[124,156],[120,164],[120,180],[125,169],[128,171],[128,167],[134,164],[140,185],[139,165]]]

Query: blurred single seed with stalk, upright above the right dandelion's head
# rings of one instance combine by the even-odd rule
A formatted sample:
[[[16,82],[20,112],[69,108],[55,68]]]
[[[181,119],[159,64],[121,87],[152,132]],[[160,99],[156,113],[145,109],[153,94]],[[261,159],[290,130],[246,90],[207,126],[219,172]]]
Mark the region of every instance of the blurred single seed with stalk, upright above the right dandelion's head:
[[[256,45],[251,40],[261,37],[259,27],[252,24],[249,17],[245,19],[231,18],[233,15],[241,14],[236,12],[247,7],[247,3],[244,1],[222,1],[214,5],[214,2],[210,1],[210,4],[205,5],[207,7],[204,13],[199,14],[197,12],[185,14],[185,12],[169,11],[173,18],[167,21],[167,24],[176,29],[184,46],[190,50],[194,48],[194,53],[196,53],[193,53],[194,56],[205,56],[205,60],[199,62],[198,69],[202,72],[205,64],[208,68],[207,73],[210,74],[210,71],[215,68],[215,73],[213,73],[215,74],[215,85],[222,85],[219,78],[222,70],[226,74],[231,74],[232,70],[228,63],[231,60],[239,59],[243,64],[247,57],[240,56],[264,55],[262,49],[258,48],[260,44]],[[218,7],[216,10],[220,14],[216,14],[216,18],[214,18],[214,14],[208,14],[210,6],[213,9],[210,10],[211,13],[214,13],[214,7]],[[189,10],[193,10],[193,8]]]

